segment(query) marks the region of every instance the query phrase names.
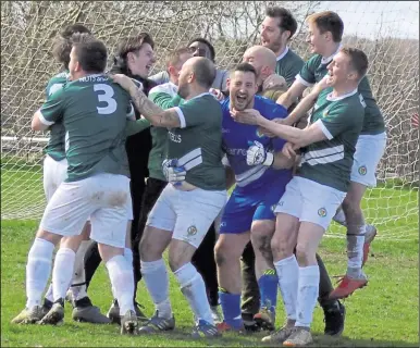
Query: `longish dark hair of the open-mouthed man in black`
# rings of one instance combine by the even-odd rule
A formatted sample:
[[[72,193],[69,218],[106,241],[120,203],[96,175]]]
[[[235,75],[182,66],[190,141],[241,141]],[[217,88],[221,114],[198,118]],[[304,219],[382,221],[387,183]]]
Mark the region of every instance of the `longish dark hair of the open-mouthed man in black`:
[[[120,40],[114,55],[114,67],[118,71],[125,75],[131,75],[127,66],[127,54],[129,52],[136,52],[141,49],[145,44],[149,44],[152,49],[155,49],[155,41],[148,33],[140,33],[136,36],[128,36]]]

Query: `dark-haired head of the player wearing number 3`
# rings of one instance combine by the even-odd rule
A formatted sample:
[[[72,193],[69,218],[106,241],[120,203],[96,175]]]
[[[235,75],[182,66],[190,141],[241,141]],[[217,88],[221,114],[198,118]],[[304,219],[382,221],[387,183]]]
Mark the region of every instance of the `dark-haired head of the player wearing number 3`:
[[[103,73],[107,67],[108,51],[104,44],[89,34],[72,35],[74,53],[82,69],[87,73]]]

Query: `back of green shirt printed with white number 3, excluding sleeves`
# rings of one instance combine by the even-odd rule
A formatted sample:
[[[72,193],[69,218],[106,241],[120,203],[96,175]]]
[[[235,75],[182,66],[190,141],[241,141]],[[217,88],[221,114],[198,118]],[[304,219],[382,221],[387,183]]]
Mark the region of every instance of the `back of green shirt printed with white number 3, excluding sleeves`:
[[[69,182],[96,173],[127,175],[125,125],[129,96],[102,74],[63,87]]]

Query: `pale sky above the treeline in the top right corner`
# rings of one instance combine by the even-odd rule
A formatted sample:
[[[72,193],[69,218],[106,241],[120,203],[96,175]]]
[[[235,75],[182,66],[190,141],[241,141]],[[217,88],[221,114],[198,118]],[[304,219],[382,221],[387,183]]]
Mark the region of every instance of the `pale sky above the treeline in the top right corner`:
[[[338,13],[345,35],[375,38],[381,32],[382,35],[419,39],[418,1],[321,1],[319,9]]]

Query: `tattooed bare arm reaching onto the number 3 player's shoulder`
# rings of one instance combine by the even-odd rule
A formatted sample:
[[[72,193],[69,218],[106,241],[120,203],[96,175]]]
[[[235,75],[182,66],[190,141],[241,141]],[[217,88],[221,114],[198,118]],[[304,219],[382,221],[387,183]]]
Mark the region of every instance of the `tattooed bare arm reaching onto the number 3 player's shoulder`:
[[[180,116],[175,109],[162,110],[149,100],[129,77],[123,74],[115,74],[111,75],[111,78],[129,92],[136,109],[145,116],[145,119],[149,120],[153,126],[166,128],[181,126]]]

